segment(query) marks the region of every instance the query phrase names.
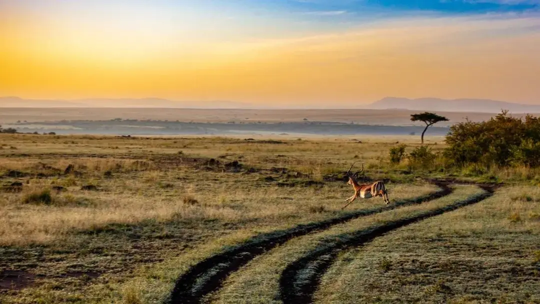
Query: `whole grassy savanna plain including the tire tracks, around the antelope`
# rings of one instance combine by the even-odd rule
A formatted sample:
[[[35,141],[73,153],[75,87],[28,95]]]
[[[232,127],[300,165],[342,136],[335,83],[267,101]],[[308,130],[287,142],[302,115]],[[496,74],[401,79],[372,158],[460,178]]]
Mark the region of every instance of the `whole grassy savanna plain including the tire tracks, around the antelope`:
[[[534,170],[391,164],[406,136],[0,140],[1,303],[540,303]],[[389,205],[341,210],[354,161]]]

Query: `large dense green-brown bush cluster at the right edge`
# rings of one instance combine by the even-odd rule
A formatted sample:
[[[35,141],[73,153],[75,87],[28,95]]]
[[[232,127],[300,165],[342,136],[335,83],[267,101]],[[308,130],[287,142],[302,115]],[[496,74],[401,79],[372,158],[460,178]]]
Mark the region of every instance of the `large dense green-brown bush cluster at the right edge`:
[[[540,120],[511,117],[502,111],[488,121],[450,127],[444,158],[455,166],[540,166]]]

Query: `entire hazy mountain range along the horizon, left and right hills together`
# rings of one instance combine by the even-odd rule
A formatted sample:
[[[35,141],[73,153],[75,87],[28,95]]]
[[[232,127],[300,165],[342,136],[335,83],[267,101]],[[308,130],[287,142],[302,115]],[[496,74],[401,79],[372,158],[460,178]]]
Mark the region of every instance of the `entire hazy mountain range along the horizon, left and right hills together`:
[[[540,102],[540,100],[539,100]],[[23,99],[19,97],[0,97],[0,107],[133,107],[133,108],[173,108],[173,109],[301,109],[301,106],[286,107],[272,105],[254,105],[248,103],[215,101],[174,101],[162,98],[89,98],[75,100]],[[334,109],[350,109],[351,106],[334,104]],[[355,106],[357,109],[357,106]],[[511,113],[540,113],[540,105],[526,105],[501,102],[490,99],[440,99],[385,97],[366,105],[365,109],[374,110],[409,110],[440,112],[480,112],[499,113],[501,109]],[[325,107],[330,109],[330,107]]]

